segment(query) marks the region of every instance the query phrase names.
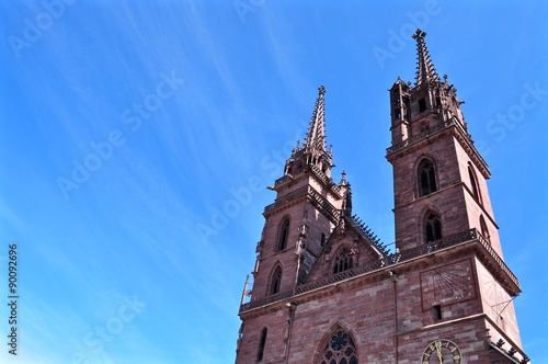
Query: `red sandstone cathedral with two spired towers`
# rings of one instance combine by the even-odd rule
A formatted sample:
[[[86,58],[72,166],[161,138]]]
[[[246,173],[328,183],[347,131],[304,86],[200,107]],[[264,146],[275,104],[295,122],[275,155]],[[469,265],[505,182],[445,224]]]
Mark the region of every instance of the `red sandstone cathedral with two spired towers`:
[[[306,138],[270,187],[237,364],[529,362],[489,167],[425,35],[413,34],[414,83],[398,78],[389,90],[395,250],[352,213],[345,173],[333,180],[320,87]]]

